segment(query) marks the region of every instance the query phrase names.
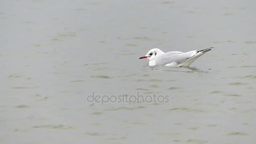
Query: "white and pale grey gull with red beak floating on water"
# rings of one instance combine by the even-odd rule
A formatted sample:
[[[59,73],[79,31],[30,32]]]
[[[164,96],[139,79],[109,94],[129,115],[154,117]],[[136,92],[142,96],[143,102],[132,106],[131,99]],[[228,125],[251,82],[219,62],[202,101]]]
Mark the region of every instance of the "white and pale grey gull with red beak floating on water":
[[[149,66],[165,65],[167,67],[189,67],[192,62],[208,51],[211,51],[212,48],[206,48],[201,51],[188,51],[186,53],[180,51],[164,53],[159,48],[153,48],[149,50],[145,56],[141,56],[139,59],[148,59]]]

